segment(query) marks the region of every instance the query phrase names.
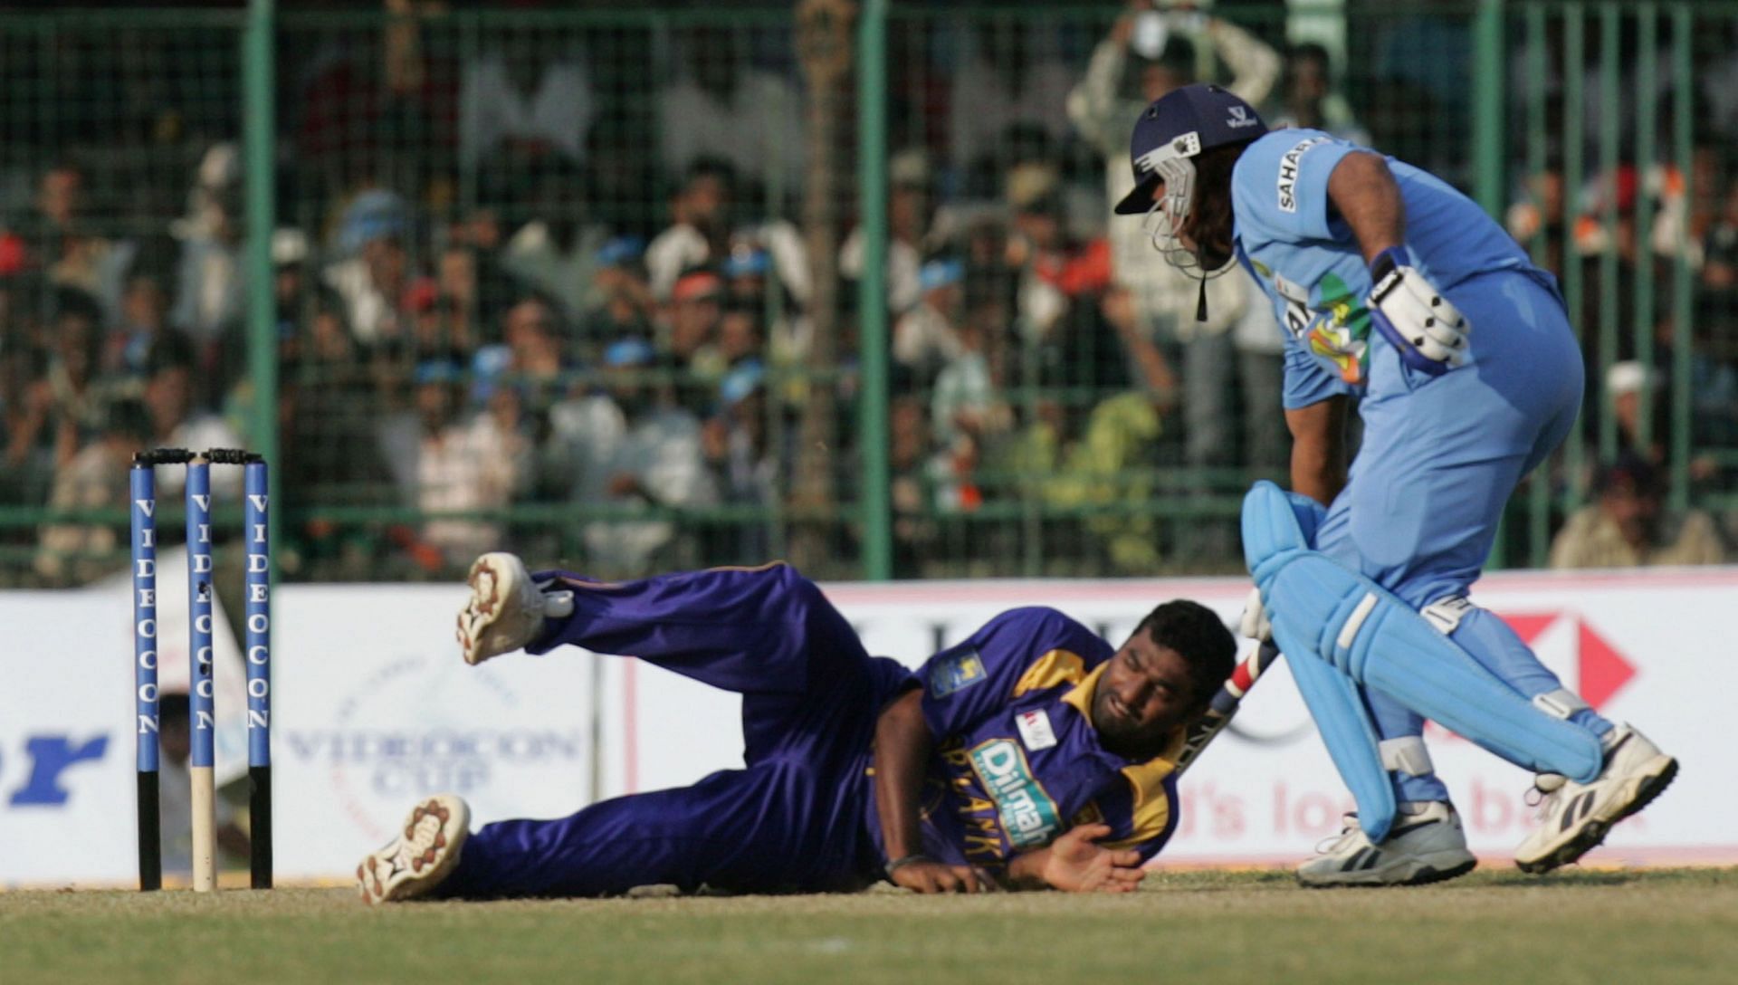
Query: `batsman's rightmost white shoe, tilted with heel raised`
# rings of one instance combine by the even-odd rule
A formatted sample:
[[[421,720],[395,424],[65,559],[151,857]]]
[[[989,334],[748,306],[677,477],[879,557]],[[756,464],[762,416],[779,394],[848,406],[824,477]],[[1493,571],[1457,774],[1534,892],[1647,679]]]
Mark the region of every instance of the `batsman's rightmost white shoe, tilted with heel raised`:
[[[1618,724],[1604,740],[1606,764],[1592,783],[1540,773],[1533,785],[1540,827],[1516,849],[1522,872],[1550,872],[1592,851],[1611,825],[1648,806],[1677,777],[1677,759],[1660,752],[1632,726]]]

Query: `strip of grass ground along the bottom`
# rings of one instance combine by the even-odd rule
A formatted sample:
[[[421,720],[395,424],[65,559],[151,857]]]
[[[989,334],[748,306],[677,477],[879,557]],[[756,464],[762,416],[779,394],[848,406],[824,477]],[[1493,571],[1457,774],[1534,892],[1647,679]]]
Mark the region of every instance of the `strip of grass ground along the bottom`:
[[[379,910],[349,889],[0,893],[0,982],[1738,982],[1738,869],[1337,891],[1283,872],[1170,872],[1130,896]]]

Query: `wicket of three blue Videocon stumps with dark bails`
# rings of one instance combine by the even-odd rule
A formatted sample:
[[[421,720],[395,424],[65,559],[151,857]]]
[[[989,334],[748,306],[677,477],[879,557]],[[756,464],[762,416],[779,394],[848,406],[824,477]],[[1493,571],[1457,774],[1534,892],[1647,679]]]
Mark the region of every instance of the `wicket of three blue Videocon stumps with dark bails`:
[[[129,476],[132,512],[134,702],[137,724],[139,889],[163,884],[162,810],[158,789],[156,688],[156,466],[186,466],[188,537],[188,681],[193,749],[193,889],[217,888],[217,823],[214,780],[214,657],[212,657],[212,495],[210,466],[242,466],[245,479],[243,539],[247,540],[247,777],[250,876],[255,889],[271,888],[271,544],[268,535],[266,460],[250,452],[212,448],[195,453],[156,448],[134,455]]]

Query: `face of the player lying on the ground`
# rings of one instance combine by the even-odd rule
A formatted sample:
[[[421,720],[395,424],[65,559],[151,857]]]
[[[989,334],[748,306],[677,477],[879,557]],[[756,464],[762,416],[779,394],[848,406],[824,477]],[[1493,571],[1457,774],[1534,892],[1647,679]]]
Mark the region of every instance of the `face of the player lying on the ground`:
[[[1199,711],[1182,653],[1137,632],[1098,678],[1091,724],[1104,745],[1123,754],[1156,752]]]

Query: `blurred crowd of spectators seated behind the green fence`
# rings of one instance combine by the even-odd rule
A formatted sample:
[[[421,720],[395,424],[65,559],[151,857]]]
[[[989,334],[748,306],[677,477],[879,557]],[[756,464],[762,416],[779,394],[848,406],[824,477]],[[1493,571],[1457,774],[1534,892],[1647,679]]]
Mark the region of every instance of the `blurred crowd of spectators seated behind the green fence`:
[[[229,111],[163,92],[125,102],[127,127],[73,122],[64,139],[38,136],[36,153],[9,151],[0,502],[120,507],[137,448],[236,446],[262,413],[278,422],[295,518],[280,558],[294,577],[447,577],[497,545],[600,575],[756,563],[786,547],[780,512],[817,453],[834,500],[853,502],[862,224],[848,196],[838,238],[815,236],[803,200],[813,141],[853,127],[815,132],[820,96],[791,30],[647,21],[474,38],[438,5],[386,9],[400,19],[384,30],[282,31],[275,408],[247,377]],[[1418,148],[1420,122],[1392,115],[1394,87],[1448,96],[1401,57],[1429,19],[1349,42],[1370,59],[1359,69],[1392,85],[1342,87],[1345,54],[1284,45],[1272,24],[1232,23],[1236,9],[1140,0],[1100,33],[1031,17],[895,24],[885,283],[899,573],[1029,570],[1017,559],[1032,539],[1051,573],[1237,566],[1224,504],[1286,466],[1281,335],[1241,273],[1208,281],[1197,320],[1197,281],[1159,262],[1140,222],[1109,222],[1107,200],[1130,182],[1128,122],[1177,85],[1218,80],[1274,125]],[[120,38],[76,54],[104,43]],[[1710,56],[1708,78],[1735,66]],[[1655,490],[1667,464],[1662,394],[1684,382],[1670,377],[1674,346],[1691,347],[1691,445],[1738,446],[1728,109],[1710,109],[1693,195],[1670,155],[1590,169],[1568,189],[1554,153],[1507,215],[1554,269],[1580,257],[1589,325],[1609,307],[1601,257],[1618,257],[1622,313],[1658,285],[1655,325],[1625,320],[1618,351],[1589,334],[1601,405],[1589,440],[1616,420],[1630,455],[1601,473],[1606,506],[1613,490]],[[174,182],[163,162],[179,162]],[[1453,177],[1465,155],[1418,163]],[[1670,290],[1681,262],[1696,278],[1688,335]],[[817,311],[834,273],[838,311]],[[810,365],[817,332],[833,334],[838,365]],[[1653,344],[1637,347],[1644,334]],[[819,450],[799,441],[817,389],[838,401]],[[1703,455],[1695,476],[1717,483],[1731,464]],[[177,483],[162,471],[163,495]],[[1613,523],[1597,526],[1613,544],[1601,558],[1641,530]],[[0,530],[0,544],[28,558],[7,566],[19,580],[75,584],[116,568],[118,530],[63,516]],[[855,572],[850,530],[834,523],[838,575]],[[1717,547],[1715,523],[1691,533]]]

